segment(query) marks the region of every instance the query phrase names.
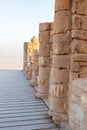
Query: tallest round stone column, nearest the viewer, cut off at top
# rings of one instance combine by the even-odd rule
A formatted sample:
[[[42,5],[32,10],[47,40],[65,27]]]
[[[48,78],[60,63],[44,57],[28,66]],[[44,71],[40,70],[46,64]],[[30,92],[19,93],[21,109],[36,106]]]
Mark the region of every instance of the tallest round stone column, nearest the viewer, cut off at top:
[[[68,121],[67,90],[69,83],[70,37],[71,0],[55,0],[49,114],[56,124],[64,128]]]

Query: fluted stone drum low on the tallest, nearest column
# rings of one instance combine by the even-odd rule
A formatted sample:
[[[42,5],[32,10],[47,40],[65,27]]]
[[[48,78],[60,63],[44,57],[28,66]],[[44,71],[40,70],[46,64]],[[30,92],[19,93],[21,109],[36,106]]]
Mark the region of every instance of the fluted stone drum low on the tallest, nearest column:
[[[68,92],[67,84],[51,84],[51,95],[54,98],[66,98]]]

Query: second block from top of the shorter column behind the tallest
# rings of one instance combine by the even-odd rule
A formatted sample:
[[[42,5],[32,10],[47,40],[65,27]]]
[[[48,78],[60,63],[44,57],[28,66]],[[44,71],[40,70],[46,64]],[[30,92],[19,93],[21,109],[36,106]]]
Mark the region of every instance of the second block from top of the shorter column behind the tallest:
[[[39,33],[40,44],[49,44],[50,41],[50,31],[42,31]]]

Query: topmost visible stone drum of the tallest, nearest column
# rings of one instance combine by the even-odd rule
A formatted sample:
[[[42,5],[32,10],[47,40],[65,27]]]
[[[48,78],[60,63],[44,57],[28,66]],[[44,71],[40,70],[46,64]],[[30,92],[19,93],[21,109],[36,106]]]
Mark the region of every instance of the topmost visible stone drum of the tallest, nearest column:
[[[71,8],[71,0],[56,0],[55,1],[55,12],[58,10],[70,10]]]

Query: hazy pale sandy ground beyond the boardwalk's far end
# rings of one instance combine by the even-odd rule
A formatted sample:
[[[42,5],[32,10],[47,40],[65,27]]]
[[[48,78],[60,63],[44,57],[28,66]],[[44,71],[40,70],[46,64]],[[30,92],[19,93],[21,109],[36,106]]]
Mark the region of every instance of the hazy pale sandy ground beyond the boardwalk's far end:
[[[0,69],[22,69],[23,58],[17,56],[0,56]]]

